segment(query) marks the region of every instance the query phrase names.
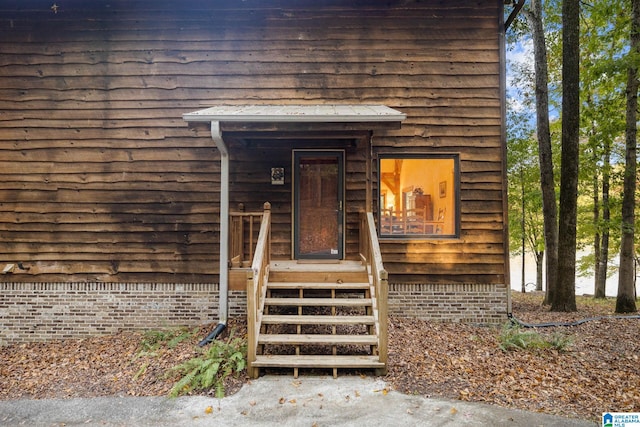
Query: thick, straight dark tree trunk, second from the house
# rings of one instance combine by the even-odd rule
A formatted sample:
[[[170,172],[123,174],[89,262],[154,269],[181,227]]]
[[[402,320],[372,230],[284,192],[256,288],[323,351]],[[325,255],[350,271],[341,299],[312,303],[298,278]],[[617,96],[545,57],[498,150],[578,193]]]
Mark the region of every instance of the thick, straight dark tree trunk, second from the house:
[[[580,0],[562,1],[562,155],[558,283],[553,311],[576,311],[576,222],[580,146]]]

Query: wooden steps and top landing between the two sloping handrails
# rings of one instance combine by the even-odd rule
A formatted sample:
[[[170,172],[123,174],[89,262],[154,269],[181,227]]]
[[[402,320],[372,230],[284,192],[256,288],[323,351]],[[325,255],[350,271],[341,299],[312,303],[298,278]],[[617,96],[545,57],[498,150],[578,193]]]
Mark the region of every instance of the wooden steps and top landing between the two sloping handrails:
[[[384,373],[373,295],[360,262],[272,261],[252,367]]]

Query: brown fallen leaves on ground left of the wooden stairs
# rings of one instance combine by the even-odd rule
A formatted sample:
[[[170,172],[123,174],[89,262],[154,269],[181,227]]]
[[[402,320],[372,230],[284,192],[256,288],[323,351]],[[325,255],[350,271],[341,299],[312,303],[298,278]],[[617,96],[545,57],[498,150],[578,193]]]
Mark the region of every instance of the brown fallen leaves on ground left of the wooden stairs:
[[[141,332],[0,347],[0,399],[168,396],[178,380],[171,368],[198,355],[197,343],[214,326],[199,328],[175,346],[165,342],[152,349],[142,346]],[[246,333],[246,327],[230,323],[225,334],[233,328]],[[229,377],[227,394],[245,381]]]

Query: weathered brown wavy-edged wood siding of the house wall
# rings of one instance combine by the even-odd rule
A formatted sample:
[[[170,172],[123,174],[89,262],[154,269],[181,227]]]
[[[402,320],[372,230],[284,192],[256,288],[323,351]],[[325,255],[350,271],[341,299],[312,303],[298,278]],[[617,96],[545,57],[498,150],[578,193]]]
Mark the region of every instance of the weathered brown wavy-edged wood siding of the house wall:
[[[374,154],[461,159],[460,238],[385,242],[394,280],[504,283],[500,1],[50,6],[0,4],[0,263],[29,268],[6,279],[215,281],[219,157],[181,115],[212,104],[381,103],[408,118],[374,133]],[[232,162],[232,207],[271,199],[282,256],[290,187],[259,182],[273,162],[290,164],[294,146]],[[367,153],[347,155],[350,256]]]

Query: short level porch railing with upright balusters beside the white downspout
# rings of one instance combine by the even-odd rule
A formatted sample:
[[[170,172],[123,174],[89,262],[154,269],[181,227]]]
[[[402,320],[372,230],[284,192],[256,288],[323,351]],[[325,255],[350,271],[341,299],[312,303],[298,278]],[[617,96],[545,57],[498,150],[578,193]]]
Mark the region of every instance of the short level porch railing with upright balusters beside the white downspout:
[[[229,212],[229,260],[231,268],[248,267],[253,260],[263,212],[245,212],[244,205]]]

